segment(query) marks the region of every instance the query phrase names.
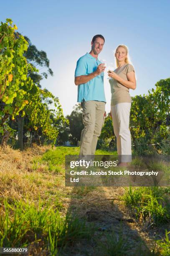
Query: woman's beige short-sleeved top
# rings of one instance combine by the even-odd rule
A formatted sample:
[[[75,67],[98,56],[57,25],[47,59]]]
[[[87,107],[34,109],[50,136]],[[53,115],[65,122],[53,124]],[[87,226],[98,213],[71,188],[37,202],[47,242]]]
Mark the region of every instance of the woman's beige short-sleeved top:
[[[114,72],[118,74],[122,79],[127,80],[127,73],[134,71],[134,67],[131,64],[124,64],[120,69],[115,69]],[[120,84],[115,79],[109,79],[110,87],[111,87],[111,106],[116,105],[122,102],[131,103],[131,97],[129,94],[129,88]]]

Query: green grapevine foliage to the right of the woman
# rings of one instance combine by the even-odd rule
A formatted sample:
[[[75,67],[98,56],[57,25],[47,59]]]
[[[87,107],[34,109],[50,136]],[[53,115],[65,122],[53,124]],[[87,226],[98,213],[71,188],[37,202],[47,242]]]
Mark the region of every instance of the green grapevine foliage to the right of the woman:
[[[135,149],[156,144],[160,149],[162,140],[170,134],[170,78],[162,79],[156,84],[156,89],[148,91],[148,95],[132,97],[130,113],[130,131]],[[137,144],[145,146],[138,147]]]

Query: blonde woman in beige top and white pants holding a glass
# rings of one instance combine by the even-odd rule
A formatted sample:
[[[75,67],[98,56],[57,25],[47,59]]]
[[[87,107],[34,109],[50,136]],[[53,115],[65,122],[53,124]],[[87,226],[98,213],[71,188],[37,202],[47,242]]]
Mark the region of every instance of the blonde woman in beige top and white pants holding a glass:
[[[131,136],[129,130],[129,115],[131,97],[129,89],[135,90],[136,79],[134,67],[129,64],[128,49],[125,45],[117,46],[115,51],[117,69],[108,71],[111,86],[111,116],[114,134],[117,138],[117,154],[119,166],[127,166],[132,161]]]

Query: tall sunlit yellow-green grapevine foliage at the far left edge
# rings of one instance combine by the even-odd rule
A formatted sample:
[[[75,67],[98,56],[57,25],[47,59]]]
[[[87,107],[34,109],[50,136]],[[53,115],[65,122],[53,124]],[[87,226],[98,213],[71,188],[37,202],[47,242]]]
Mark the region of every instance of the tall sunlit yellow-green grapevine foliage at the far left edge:
[[[3,123],[9,115],[12,119],[28,104],[26,89],[33,86],[28,70],[36,70],[30,66],[23,56],[28,43],[22,35],[15,32],[16,25],[7,19],[0,26],[0,100],[5,105],[0,110],[0,133],[3,133]]]

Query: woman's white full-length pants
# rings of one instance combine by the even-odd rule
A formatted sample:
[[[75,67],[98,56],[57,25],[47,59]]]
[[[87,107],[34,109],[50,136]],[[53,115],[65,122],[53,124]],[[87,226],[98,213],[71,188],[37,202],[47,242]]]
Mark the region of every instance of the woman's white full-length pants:
[[[132,161],[129,116],[131,103],[123,102],[111,106],[114,134],[117,138],[117,154],[119,161]],[[120,158],[121,156],[121,158]]]

